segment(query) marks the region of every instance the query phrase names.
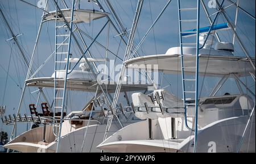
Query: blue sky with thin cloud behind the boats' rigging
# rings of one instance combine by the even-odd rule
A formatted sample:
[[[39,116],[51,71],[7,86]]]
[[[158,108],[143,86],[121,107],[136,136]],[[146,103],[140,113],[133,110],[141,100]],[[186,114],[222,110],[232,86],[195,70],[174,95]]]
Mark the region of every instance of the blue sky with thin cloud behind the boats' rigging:
[[[236,1],[236,0],[233,0]],[[27,0],[27,2],[30,2],[34,5],[37,4],[38,0]],[[51,1],[50,1],[51,2]],[[102,2],[102,1],[100,1]],[[125,1],[117,1],[117,0],[111,0],[110,1],[115,8],[119,18],[121,19],[123,25],[125,28],[130,29],[131,24],[133,21],[134,11],[137,5],[137,1],[135,0],[125,0]],[[139,19],[138,23],[138,31],[135,34],[135,44],[138,44],[140,39],[143,37],[144,33],[146,33],[147,29],[150,27],[152,21],[156,19],[159,12],[162,10],[163,6],[166,4],[166,0],[160,0],[160,1],[153,1],[153,0],[145,0],[142,7],[142,13],[141,17]],[[195,3],[195,1],[185,1],[183,0],[184,4],[183,7],[191,6],[192,3]],[[208,0],[204,1],[205,4],[208,4]],[[70,3],[68,3],[70,4]],[[26,52],[27,58],[31,57],[32,49],[34,48],[35,44],[35,38],[36,33],[38,31],[40,19],[42,16],[42,10],[39,10],[38,8],[29,6],[23,2],[20,2],[18,0],[11,0],[11,1],[5,1],[0,0],[0,7],[2,8],[4,14],[6,15],[6,18],[9,20],[9,23],[11,25],[11,28],[13,28],[13,31],[15,34],[21,34],[21,36],[18,37],[18,40],[22,43],[23,50]],[[50,6],[53,5],[51,2],[49,4]],[[104,7],[106,8],[106,5],[103,3]],[[224,3],[225,6],[230,5],[229,2]],[[244,0],[240,1],[240,5],[242,8],[244,8],[246,11],[250,12],[250,14],[255,15],[255,1],[251,0]],[[90,8],[90,9],[96,9],[99,10],[96,4],[87,1],[81,1],[81,8]],[[53,7],[49,7],[48,10],[53,9]],[[108,11],[108,10],[107,10]],[[212,14],[216,12],[214,8],[209,9],[209,12]],[[226,10],[227,14],[229,15],[229,18],[232,22],[234,22],[234,15],[236,12],[236,8],[234,6],[229,7],[228,10]],[[193,15],[186,15],[186,16],[192,16]],[[110,15],[110,18],[112,16]],[[213,18],[213,17],[212,17]],[[23,59],[18,51],[18,48],[15,44],[13,44],[13,41],[6,41],[8,38],[10,38],[10,33],[7,31],[6,25],[3,22],[3,19],[1,17],[1,33],[0,33],[0,49],[1,49],[1,60],[0,60],[0,105],[6,105],[7,106],[7,114],[14,114],[16,113],[16,109],[18,107],[18,102],[21,94],[21,88],[24,85],[24,79],[26,77],[27,73],[27,67],[25,66]],[[100,31],[102,25],[106,22],[106,19],[99,19],[96,21],[93,21],[90,24],[79,24],[79,27],[87,31],[88,34],[90,34],[91,37],[95,37],[97,32]],[[217,23],[223,23],[226,22],[222,19],[222,16],[218,18]],[[42,34],[39,38],[39,46],[36,50],[35,55],[35,61],[34,61],[34,67],[35,70],[42,62],[48,57],[49,54],[52,53],[52,50],[54,49],[54,28],[55,23],[54,22],[48,22],[44,23],[42,27]],[[200,26],[208,26],[208,20],[204,15],[204,12],[202,10],[201,12],[201,23]],[[244,14],[242,11],[239,12],[238,15],[238,23],[237,23],[237,32],[241,37],[241,40],[246,45],[247,50],[249,51],[249,54],[251,56],[255,56],[255,21],[246,14]],[[97,41],[100,42],[102,45],[106,45],[106,37],[107,37],[107,28],[104,29],[104,31],[101,33],[101,35],[98,37]],[[119,45],[119,38],[114,37],[116,35],[113,27],[110,27],[110,39],[109,39],[109,49],[112,50],[114,53],[118,50]],[[221,40],[232,42],[232,31],[222,31],[220,32]],[[86,44],[90,44],[90,40],[88,38],[85,38]],[[158,23],[156,23],[154,27],[154,32],[151,31],[146,40],[143,42],[141,49],[139,49],[140,55],[152,55],[152,54],[164,54],[166,51],[174,46],[179,45],[178,40],[178,24],[177,24],[177,1],[173,0],[170,5],[167,7],[166,11],[164,12],[163,16],[159,19]],[[241,48],[238,46],[237,42],[235,42],[235,48],[236,52],[234,55],[241,55],[244,56]],[[78,50],[74,47],[72,48],[73,54],[76,55],[76,57],[79,57]],[[101,58],[105,56],[105,51],[102,48],[99,48],[98,46],[93,45],[92,51],[94,57]],[[123,53],[125,52],[125,45],[121,44],[121,47],[118,51],[118,56],[120,58],[123,58]],[[109,55],[110,59],[114,59],[115,57],[113,55]],[[9,64],[10,62],[10,64]],[[117,61],[117,63],[120,63],[120,61]],[[9,67],[10,65],[10,67]],[[8,71],[9,70],[9,71]],[[7,78],[6,83],[6,71],[9,72],[9,77]],[[46,64],[45,67],[42,68],[42,72],[39,72],[37,75],[38,77],[43,76],[51,76],[53,72],[53,59]],[[168,83],[171,83],[174,85],[174,87],[170,87],[170,90],[174,92],[175,94],[180,94],[180,85],[179,87],[175,87],[175,85],[178,85],[179,82],[176,80],[179,80],[180,77],[177,75],[166,75],[166,79],[163,80],[163,86],[168,85]],[[210,79],[212,81],[212,79]],[[214,80],[215,81],[215,80]],[[232,83],[232,81],[230,81]],[[247,81],[248,85],[255,88],[255,83],[253,81]],[[208,84],[211,85],[211,84]],[[235,88],[234,85],[229,85],[229,89]],[[207,88],[207,87],[205,87]],[[21,110],[21,113],[29,113],[28,111],[28,104],[29,103],[35,103],[36,102],[36,93],[30,94],[30,92],[36,90],[36,88],[30,88],[30,90],[27,90],[26,96],[24,98],[23,107]],[[224,91],[223,91],[224,92]],[[51,98],[51,91],[47,91],[47,96]],[[80,110],[80,107],[82,104],[86,103],[86,100],[93,96],[93,93],[71,93],[72,96],[72,110]],[[178,95],[180,96],[180,95]],[[3,98],[4,97],[4,98]],[[82,101],[82,103],[81,103]],[[18,128],[18,133],[24,131],[25,124],[20,124]],[[10,126],[2,126],[2,122],[0,123],[0,128],[2,130],[7,131],[10,133]]]

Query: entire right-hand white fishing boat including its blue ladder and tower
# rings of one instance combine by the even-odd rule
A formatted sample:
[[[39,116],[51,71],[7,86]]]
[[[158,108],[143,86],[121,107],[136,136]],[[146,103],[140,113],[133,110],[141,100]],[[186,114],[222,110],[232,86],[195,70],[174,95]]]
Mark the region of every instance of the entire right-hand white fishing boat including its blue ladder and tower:
[[[134,93],[131,106],[121,110],[132,108],[142,121],[123,127],[97,148],[123,153],[255,152],[255,92],[248,91],[242,81],[249,78],[255,83],[255,58],[247,54],[229,18],[222,12],[223,2],[216,1],[217,12],[212,20],[203,1],[195,1],[194,7],[188,7],[185,1],[178,0],[180,46],[168,49],[166,54],[125,60],[127,69],[157,65],[159,72],[172,74],[172,78],[179,80],[177,85],[182,86],[183,98],[163,88],[149,94]],[[200,6],[206,11],[209,27],[200,28]],[[195,19],[184,18],[184,12],[193,15],[188,11],[194,11],[189,13],[194,13]],[[227,23],[215,23],[219,14],[224,15]],[[186,28],[188,22],[196,28]],[[233,43],[220,41],[218,32],[224,30],[234,33],[246,57],[234,56]],[[220,81],[214,83],[214,78]],[[207,83],[207,89],[212,91],[201,96],[204,91],[199,86],[206,79],[212,80]],[[224,92],[230,79],[235,81],[236,88],[232,89],[238,93]]]

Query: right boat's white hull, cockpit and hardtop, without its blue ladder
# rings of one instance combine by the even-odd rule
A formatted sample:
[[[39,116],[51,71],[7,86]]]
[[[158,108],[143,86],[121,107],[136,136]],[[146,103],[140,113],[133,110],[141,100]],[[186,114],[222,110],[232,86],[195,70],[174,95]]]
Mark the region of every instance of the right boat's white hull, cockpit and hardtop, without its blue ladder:
[[[237,152],[241,138],[243,144],[239,148],[240,152],[255,152],[255,113],[251,120],[251,131],[244,133],[255,107],[255,93],[250,90],[254,99],[244,93],[241,85],[245,84],[240,80],[240,77],[251,74],[255,77],[255,70],[247,58],[233,55],[233,44],[215,42],[213,35],[209,37],[211,39],[199,51],[199,75],[221,80],[214,84],[209,96],[199,97],[196,152]],[[204,40],[202,32],[200,44]],[[127,69],[143,69],[147,65],[157,64],[159,72],[173,75],[183,72],[187,81],[195,81],[195,77],[192,79],[191,76],[195,75],[196,70],[193,67],[196,63],[196,48],[182,48],[183,57],[186,57],[183,58],[183,67],[186,69],[181,67],[180,50],[180,47],[174,47],[168,49],[166,54],[128,59],[125,65]],[[217,95],[228,78],[236,81],[240,94]],[[194,93],[193,90],[184,92]],[[97,148],[106,152],[193,152],[195,98],[187,96],[184,101],[166,89],[156,89],[147,95],[134,93],[132,100],[135,116],[142,121],[115,132]],[[122,107],[122,110],[125,108]]]

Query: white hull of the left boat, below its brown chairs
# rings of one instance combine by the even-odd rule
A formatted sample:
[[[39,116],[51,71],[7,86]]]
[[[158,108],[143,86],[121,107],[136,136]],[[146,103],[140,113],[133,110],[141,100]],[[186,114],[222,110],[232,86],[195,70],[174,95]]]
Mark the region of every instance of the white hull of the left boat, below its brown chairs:
[[[52,126],[46,128],[46,142],[43,142],[43,128],[38,127],[22,133],[22,135],[11,140],[5,148],[13,149],[23,153],[54,153],[56,152],[57,141],[52,132]],[[63,125],[65,129],[65,124]],[[86,129],[84,147],[84,133]],[[71,132],[61,135],[60,153],[81,153],[81,152],[100,152],[96,146],[102,142],[105,135],[106,124],[90,124],[88,127],[81,127]],[[118,129],[115,126],[110,128],[108,135],[112,135]],[[65,131],[64,131],[65,132]]]

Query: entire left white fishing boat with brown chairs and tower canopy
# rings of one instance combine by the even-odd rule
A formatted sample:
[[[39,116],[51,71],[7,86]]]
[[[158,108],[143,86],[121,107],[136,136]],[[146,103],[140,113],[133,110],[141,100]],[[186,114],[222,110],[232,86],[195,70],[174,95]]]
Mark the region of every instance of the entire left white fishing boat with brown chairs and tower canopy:
[[[5,148],[19,152],[100,152],[101,150],[97,149],[96,146],[104,139],[107,126],[106,118],[109,114],[115,113],[106,94],[102,96],[102,93],[113,93],[117,84],[108,75],[105,75],[105,72],[94,74],[90,66],[95,63],[107,64],[109,59],[69,57],[70,48],[66,47],[65,50],[67,51],[63,51],[64,48],[60,48],[60,46],[70,45],[70,40],[68,43],[67,40],[72,34],[65,29],[64,32],[66,33],[57,33],[57,31],[60,28],[71,28],[72,24],[90,23],[90,21],[104,18],[108,13],[81,9],[60,10],[57,7],[56,11],[44,14],[42,19],[42,22],[54,21],[56,23],[56,40],[64,40],[61,43],[55,43],[56,49],[53,53],[55,54],[55,71],[51,77],[35,77],[36,72],[34,72],[34,75],[25,81],[26,87],[39,88],[40,94],[46,102],[42,102],[41,105],[38,102],[36,104],[31,103],[29,105],[30,114],[21,115],[18,111],[17,115],[2,118],[3,123],[14,125],[14,128],[17,122],[32,122],[33,124],[30,130],[11,139]],[[61,58],[59,58],[60,55]],[[67,68],[65,70],[63,65],[60,65],[61,63],[64,66],[69,66],[69,63],[76,63],[79,69],[74,69],[74,66],[72,69],[65,67]],[[151,86],[152,84],[141,84],[139,81],[138,83],[123,83],[121,92],[147,90]],[[47,101],[43,92],[44,88],[54,89],[53,105]],[[64,111],[63,106],[64,90],[94,92],[95,96],[81,110],[71,111],[68,114]],[[42,113],[37,109],[38,106],[42,108]],[[133,113],[116,115],[113,121],[119,125],[121,124],[120,120],[125,119],[125,122],[122,123],[127,125],[133,122],[133,116]],[[120,127],[122,124],[121,126],[112,126],[108,130],[108,134],[113,134]]]

